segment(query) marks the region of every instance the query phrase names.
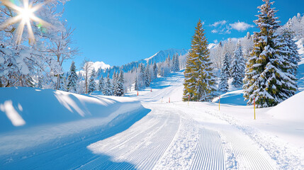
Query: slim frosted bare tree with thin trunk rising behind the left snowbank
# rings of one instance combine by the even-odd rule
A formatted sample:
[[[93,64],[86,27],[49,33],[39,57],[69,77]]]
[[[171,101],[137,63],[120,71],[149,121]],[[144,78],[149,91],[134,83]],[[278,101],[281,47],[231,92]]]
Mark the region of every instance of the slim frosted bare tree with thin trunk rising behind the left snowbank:
[[[66,28],[67,24],[64,24],[64,27],[65,30],[60,30],[58,32],[58,38],[52,39],[51,45],[47,50],[50,52],[50,54],[57,57],[57,62],[59,63],[60,68],[62,68],[62,63],[65,60],[73,59],[75,55],[79,55],[78,47],[72,47],[72,44],[74,44],[74,41],[72,41],[74,29],[72,30],[72,28]],[[55,89],[60,89],[59,73],[57,74],[57,83]]]

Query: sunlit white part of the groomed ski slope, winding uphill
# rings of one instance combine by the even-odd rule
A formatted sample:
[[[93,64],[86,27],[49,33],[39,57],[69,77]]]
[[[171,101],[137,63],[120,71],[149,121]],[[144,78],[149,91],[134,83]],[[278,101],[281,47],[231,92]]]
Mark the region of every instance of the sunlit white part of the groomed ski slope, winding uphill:
[[[178,72],[154,81],[152,92],[128,94],[151,112],[128,130],[89,145],[97,157],[79,169],[303,169],[303,154],[291,152],[287,142],[276,146],[281,139],[271,132],[220,115],[218,103],[182,102],[183,81]],[[264,135],[273,138],[259,138]],[[124,163],[108,164],[98,156],[103,154]]]

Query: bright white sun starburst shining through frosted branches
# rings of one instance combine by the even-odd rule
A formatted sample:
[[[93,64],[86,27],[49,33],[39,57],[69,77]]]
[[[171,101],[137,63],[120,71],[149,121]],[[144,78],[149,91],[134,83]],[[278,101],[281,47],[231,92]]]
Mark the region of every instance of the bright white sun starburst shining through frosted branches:
[[[21,43],[22,35],[24,26],[27,26],[28,28],[28,41],[29,43],[35,43],[35,36],[33,33],[33,28],[31,24],[33,21],[35,23],[38,23],[39,26],[48,27],[50,26],[49,23],[43,21],[42,19],[35,16],[35,11],[38,11],[39,8],[41,8],[44,4],[38,4],[36,6],[32,6],[28,3],[28,0],[23,0],[23,6],[17,6],[16,4],[13,4],[9,0],[0,0],[2,4],[5,6],[8,6],[9,8],[13,9],[18,15],[13,16],[12,18],[9,18],[8,21],[1,24],[0,30],[3,30],[7,28],[8,26],[13,25],[14,23],[18,23],[18,28],[16,29],[16,44]]]

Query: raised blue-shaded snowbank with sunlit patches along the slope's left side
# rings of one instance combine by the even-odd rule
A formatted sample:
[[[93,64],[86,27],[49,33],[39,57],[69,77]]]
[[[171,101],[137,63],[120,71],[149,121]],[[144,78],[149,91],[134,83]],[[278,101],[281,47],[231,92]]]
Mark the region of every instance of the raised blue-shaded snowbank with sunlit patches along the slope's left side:
[[[0,88],[0,132],[110,115],[115,118],[140,107],[140,101],[135,98],[84,96],[26,87]]]

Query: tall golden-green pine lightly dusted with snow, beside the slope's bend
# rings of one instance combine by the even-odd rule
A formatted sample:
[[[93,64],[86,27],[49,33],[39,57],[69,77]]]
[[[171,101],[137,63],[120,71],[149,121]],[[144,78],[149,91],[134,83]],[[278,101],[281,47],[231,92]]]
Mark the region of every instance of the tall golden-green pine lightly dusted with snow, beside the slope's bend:
[[[184,101],[188,100],[188,96],[191,101],[211,101],[215,95],[213,67],[209,58],[208,42],[203,32],[200,20],[193,35],[184,72]]]

